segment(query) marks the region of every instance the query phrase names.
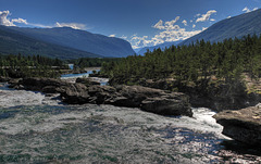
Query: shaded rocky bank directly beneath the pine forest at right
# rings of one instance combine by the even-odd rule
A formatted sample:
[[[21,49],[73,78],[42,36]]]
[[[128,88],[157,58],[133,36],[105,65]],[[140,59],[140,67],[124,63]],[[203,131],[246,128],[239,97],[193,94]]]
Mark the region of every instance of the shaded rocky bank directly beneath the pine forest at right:
[[[261,102],[261,80],[251,79],[247,74],[241,81],[216,81],[210,79],[206,86],[186,84],[181,86],[175,79],[141,79],[139,85],[163,90],[178,90],[189,96],[195,108],[209,108],[221,112],[224,110],[240,110]]]

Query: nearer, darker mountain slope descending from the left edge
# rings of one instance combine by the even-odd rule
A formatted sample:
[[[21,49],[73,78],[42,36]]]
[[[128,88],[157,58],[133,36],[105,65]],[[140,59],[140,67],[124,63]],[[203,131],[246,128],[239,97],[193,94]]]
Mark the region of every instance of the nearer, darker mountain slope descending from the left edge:
[[[0,53],[40,54],[59,59],[101,58],[101,55],[90,52],[34,39],[7,26],[0,26]]]

